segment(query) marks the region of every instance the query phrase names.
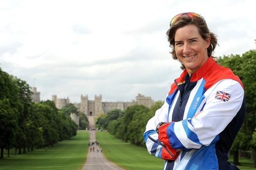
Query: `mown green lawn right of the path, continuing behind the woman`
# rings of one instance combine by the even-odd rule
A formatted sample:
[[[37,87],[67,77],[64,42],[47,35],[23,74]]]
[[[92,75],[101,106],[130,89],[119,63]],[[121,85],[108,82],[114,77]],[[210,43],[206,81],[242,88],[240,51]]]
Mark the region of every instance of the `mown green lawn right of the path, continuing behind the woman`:
[[[163,168],[164,161],[148,154],[145,148],[122,142],[108,132],[98,131],[96,138],[100,142],[104,156],[126,170],[156,170]],[[241,170],[256,170],[249,159],[243,158],[239,161],[243,165],[239,166]]]

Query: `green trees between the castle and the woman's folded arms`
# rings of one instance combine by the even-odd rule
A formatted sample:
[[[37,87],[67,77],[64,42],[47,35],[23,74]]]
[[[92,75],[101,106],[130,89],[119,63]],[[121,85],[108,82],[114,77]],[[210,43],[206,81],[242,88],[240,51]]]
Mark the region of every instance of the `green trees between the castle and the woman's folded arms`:
[[[115,109],[105,115],[100,115],[96,126],[99,129],[105,129],[115,137],[125,142],[145,147],[143,133],[147,121],[155,115],[157,109],[163,102],[156,102],[151,108],[143,105],[134,105],[126,108],[124,111]]]

